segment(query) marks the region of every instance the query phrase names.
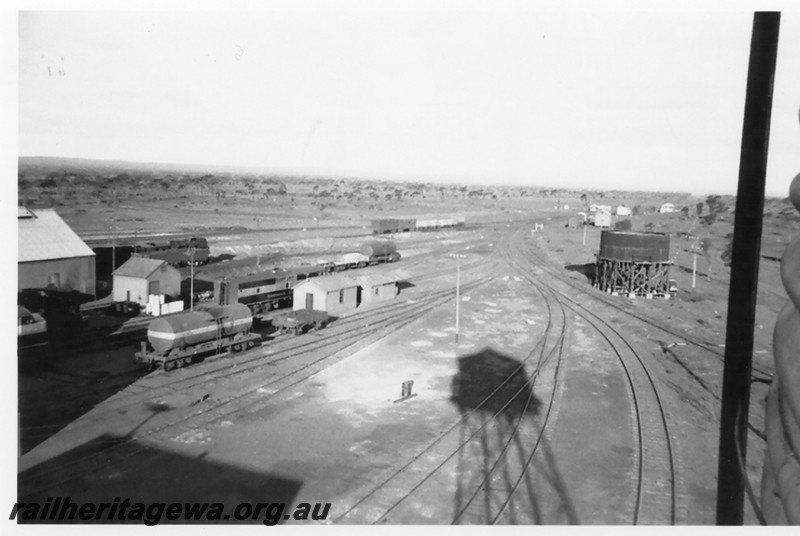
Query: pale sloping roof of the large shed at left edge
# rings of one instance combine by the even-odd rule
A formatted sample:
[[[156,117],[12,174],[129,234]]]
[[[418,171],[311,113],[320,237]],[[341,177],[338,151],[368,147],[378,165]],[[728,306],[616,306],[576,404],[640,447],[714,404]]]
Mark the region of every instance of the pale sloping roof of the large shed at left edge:
[[[94,251],[53,209],[17,210],[17,261],[93,257]]]

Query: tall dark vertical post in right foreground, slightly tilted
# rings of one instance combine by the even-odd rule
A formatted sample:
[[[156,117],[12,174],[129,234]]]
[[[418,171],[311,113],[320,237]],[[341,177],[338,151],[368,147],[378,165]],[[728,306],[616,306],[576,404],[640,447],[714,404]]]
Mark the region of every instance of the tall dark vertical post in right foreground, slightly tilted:
[[[756,13],[753,18],[725,333],[717,480],[718,525],[741,525],[744,514],[753,326],[779,28],[780,13]]]

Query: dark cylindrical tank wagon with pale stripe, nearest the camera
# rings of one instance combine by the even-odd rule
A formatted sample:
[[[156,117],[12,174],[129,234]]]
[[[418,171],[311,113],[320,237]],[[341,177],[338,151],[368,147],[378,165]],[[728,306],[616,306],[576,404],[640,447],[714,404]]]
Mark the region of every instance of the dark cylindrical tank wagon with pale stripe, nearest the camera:
[[[253,314],[242,304],[162,316],[147,327],[152,351],[142,341],[134,359],[150,368],[172,370],[211,355],[239,352],[261,344],[252,326]]]

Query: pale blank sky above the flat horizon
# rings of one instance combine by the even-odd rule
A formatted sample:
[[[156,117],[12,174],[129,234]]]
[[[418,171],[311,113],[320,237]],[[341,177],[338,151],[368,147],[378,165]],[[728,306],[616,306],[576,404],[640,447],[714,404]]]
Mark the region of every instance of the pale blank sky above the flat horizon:
[[[21,13],[18,154],[735,191],[750,11],[268,5]],[[774,99],[767,192],[784,196],[800,12]]]

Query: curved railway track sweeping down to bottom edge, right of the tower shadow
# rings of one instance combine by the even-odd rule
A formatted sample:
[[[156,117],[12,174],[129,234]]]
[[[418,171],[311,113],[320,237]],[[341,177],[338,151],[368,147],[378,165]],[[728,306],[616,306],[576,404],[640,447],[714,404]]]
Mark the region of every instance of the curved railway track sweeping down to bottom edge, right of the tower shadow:
[[[536,261],[531,250],[525,246],[519,233],[515,236],[514,251],[522,259],[512,261],[524,277],[533,282],[533,273],[526,260]],[[582,318],[600,334],[614,352],[624,372],[632,400],[631,418],[634,429],[635,459],[635,505],[632,523],[675,524],[677,521],[677,482],[675,450],[667,411],[656,381],[645,360],[627,338],[597,313],[583,303],[560,292],[541,281],[557,294],[560,303],[573,314]]]

